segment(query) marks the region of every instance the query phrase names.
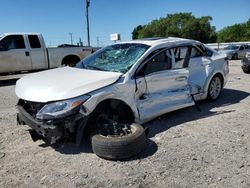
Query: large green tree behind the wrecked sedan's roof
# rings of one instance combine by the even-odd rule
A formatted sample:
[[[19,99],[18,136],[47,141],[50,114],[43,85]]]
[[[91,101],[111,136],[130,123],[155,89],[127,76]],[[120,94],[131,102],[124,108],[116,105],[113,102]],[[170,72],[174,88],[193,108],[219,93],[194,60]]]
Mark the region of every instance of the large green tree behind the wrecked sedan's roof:
[[[132,32],[132,38],[147,37],[182,37],[201,42],[215,42],[217,35],[215,27],[211,26],[212,17],[196,18],[192,13],[168,14],[146,25],[137,26]]]

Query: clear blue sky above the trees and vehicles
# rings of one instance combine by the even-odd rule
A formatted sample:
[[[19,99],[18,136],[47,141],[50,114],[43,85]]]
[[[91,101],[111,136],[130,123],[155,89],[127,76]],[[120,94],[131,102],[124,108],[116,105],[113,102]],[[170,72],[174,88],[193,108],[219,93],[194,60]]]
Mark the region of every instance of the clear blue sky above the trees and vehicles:
[[[1,0],[0,34],[42,33],[47,46],[79,42],[87,45],[86,0]],[[89,22],[92,46],[110,43],[110,34],[131,40],[132,31],[167,14],[191,12],[211,16],[219,31],[250,19],[250,0],[90,0]]]

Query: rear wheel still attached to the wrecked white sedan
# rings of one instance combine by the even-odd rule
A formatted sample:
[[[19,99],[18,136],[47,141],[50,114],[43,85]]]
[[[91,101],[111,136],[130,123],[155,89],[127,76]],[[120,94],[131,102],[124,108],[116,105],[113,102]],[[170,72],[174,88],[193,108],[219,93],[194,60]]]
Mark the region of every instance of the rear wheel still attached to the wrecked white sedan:
[[[209,83],[207,100],[215,101],[219,98],[222,91],[222,78],[219,75],[215,75]]]

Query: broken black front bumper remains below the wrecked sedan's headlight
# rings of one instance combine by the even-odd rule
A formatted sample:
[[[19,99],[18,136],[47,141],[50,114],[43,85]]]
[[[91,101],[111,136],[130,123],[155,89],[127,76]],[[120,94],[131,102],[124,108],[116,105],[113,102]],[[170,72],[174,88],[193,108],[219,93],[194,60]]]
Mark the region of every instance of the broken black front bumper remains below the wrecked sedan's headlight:
[[[48,144],[54,144],[60,140],[71,140],[80,145],[87,117],[76,113],[61,119],[37,120],[29,114],[21,105],[17,105],[17,123],[28,125],[33,141],[44,140]]]

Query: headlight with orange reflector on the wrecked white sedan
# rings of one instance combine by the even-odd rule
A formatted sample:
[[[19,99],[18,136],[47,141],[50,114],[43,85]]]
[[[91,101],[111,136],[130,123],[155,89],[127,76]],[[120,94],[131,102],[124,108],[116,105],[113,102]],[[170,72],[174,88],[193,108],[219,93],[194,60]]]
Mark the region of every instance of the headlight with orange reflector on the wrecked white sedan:
[[[55,119],[70,115],[74,109],[89,99],[90,96],[84,95],[64,101],[46,104],[37,114],[37,119]]]

